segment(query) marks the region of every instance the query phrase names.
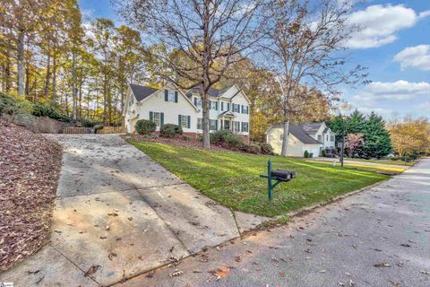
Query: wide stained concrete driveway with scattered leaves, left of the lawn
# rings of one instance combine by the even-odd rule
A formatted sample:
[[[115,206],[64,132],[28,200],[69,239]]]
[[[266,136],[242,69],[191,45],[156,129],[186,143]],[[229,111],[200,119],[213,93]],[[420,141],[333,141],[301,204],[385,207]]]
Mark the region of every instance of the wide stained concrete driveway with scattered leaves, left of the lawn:
[[[51,241],[0,282],[120,283],[265,220],[215,204],[118,135],[47,136],[64,146]]]

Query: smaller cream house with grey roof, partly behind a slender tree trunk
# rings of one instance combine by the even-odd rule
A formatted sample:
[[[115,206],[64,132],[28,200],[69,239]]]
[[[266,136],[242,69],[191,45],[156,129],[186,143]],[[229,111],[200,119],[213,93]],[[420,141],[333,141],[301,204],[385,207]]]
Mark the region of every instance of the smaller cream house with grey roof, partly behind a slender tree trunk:
[[[271,126],[266,131],[266,142],[273,147],[273,152],[280,154],[282,150],[283,124]],[[325,123],[305,123],[299,126],[290,125],[288,135],[287,156],[302,157],[305,151],[320,156],[323,149],[335,146],[335,134]]]

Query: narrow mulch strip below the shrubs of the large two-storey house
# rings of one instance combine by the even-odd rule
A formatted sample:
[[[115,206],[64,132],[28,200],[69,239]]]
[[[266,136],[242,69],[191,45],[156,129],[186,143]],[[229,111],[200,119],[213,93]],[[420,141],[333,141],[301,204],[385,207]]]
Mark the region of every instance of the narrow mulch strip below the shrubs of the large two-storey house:
[[[202,142],[192,137],[188,137],[188,140],[185,140],[184,136],[176,136],[174,138],[169,138],[162,137],[159,135],[123,135],[123,137],[126,140],[132,140],[137,142],[166,143],[193,149],[202,149]],[[211,143],[211,150],[228,151],[228,149],[213,143]]]

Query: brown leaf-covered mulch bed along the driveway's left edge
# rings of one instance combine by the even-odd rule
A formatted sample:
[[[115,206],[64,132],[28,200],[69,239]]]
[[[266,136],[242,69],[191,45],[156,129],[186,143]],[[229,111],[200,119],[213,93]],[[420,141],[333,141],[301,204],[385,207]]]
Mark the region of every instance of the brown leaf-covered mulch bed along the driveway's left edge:
[[[62,149],[0,119],[0,271],[47,242]]]

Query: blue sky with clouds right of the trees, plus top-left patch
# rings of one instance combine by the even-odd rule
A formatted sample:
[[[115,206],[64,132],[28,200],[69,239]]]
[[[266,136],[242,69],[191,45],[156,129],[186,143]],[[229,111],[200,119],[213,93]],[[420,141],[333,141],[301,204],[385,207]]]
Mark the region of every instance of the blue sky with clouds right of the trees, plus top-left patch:
[[[109,0],[79,0],[84,17],[119,23]],[[368,68],[372,81],[342,97],[353,108],[383,117],[430,117],[430,0],[367,0],[350,22],[364,28],[352,35],[351,65]]]

